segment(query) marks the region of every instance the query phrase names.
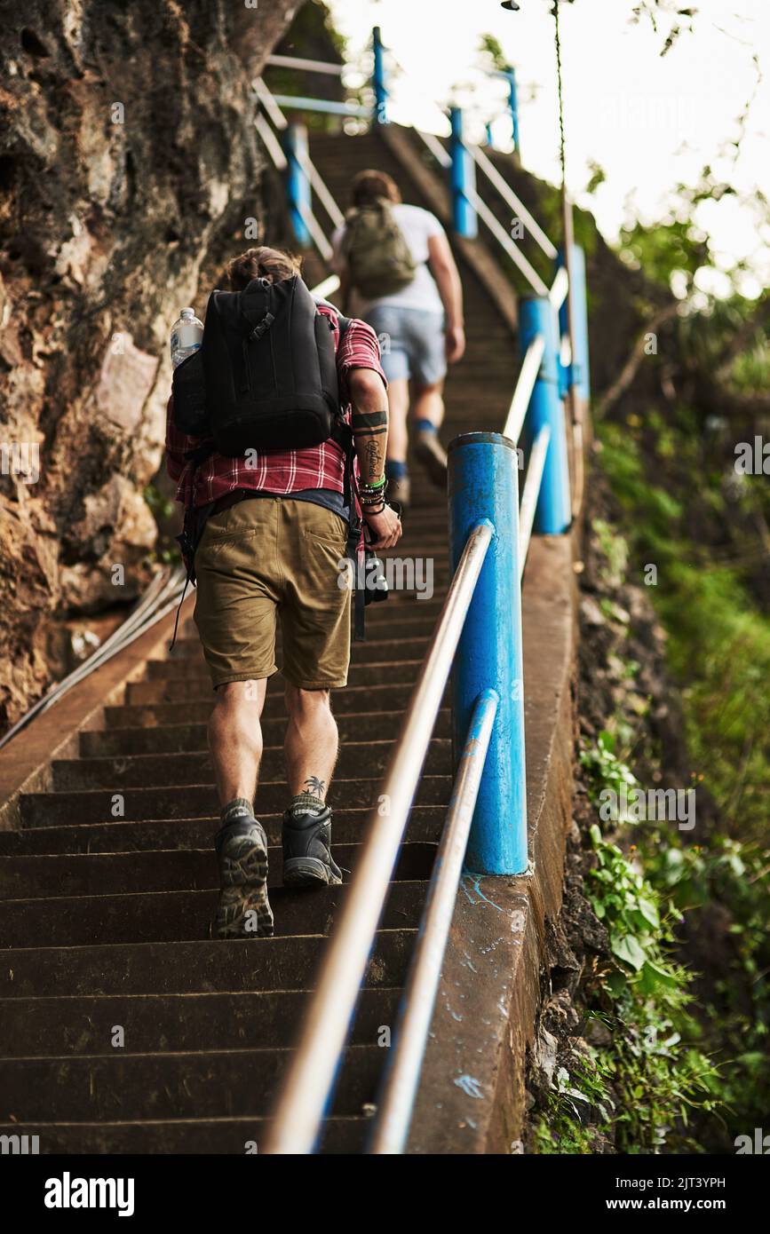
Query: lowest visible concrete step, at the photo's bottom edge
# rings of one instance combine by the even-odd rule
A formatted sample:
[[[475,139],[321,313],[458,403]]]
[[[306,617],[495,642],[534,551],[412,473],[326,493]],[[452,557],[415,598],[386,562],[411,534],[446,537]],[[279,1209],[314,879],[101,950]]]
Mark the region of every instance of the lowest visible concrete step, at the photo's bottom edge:
[[[196,1156],[253,1153],[264,1143],[269,1119],[169,1118],[111,1122],[12,1122],[0,1123],[0,1135],[37,1135],[39,1151],[62,1155],[191,1154]],[[362,1153],[371,1130],[368,1117],[327,1118],[322,1150],[328,1154]]]

